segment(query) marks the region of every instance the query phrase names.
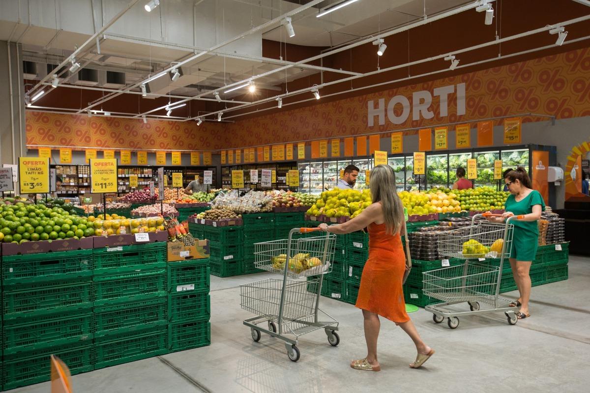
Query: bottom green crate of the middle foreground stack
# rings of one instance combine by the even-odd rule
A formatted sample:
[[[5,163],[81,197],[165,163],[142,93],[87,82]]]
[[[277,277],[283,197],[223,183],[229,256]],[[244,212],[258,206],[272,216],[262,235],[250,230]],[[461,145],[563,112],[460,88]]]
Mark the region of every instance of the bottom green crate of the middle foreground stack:
[[[166,328],[158,327],[105,336],[94,340],[94,368],[114,366],[168,353],[168,329]]]

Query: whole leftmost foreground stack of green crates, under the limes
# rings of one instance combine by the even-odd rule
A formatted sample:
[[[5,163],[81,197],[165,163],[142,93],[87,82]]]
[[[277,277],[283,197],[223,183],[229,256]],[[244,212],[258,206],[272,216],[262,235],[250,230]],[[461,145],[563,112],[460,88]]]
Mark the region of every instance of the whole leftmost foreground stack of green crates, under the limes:
[[[91,371],[93,250],[2,257],[5,389],[47,381],[49,356]]]

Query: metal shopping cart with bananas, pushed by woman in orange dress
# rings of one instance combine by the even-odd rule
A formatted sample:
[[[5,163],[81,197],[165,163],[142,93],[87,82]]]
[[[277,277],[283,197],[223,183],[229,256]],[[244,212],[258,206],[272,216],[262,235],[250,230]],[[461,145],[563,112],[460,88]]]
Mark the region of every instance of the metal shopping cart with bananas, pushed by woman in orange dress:
[[[261,332],[280,338],[293,362],[300,358],[297,339],[301,335],[324,329],[330,345],[340,343],[338,321],[319,309],[323,275],[332,270],[336,235],[309,236],[317,230],[295,228],[287,240],[255,243],[255,266],[283,278],[240,286],[242,309],[257,315],[244,320],[244,325],[250,326],[252,339],[259,341]],[[303,237],[293,239],[296,233]],[[259,326],[264,322],[268,329]]]

